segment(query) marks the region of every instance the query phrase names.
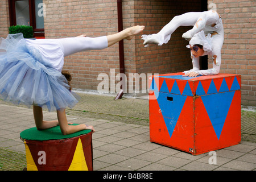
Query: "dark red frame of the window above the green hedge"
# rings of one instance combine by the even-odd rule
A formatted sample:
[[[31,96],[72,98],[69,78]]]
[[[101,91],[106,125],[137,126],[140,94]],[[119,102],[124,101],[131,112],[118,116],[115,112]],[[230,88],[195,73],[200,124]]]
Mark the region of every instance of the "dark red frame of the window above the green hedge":
[[[16,26],[16,10],[15,2],[22,0],[8,0],[9,1],[9,19],[10,26]],[[44,37],[44,28],[36,28],[36,14],[35,14],[35,0],[28,0],[30,10],[30,26],[33,27],[34,37]]]

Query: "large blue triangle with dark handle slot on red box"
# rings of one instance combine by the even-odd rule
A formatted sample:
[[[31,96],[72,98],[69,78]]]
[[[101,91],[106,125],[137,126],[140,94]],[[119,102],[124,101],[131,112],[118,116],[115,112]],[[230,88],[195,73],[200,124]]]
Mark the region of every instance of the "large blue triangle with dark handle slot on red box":
[[[167,100],[168,97],[172,97],[172,101]],[[179,119],[181,110],[185,104],[187,96],[181,96],[176,94],[159,94],[157,101],[160,108],[160,111],[163,115],[164,122],[170,138],[174,132],[177,120]]]

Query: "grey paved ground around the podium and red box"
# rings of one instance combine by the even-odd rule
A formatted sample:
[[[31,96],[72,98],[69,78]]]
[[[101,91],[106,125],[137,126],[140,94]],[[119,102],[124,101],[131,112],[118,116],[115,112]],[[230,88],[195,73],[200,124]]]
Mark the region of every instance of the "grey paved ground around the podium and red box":
[[[187,152],[150,142],[148,100],[78,93],[79,104],[67,109],[69,122],[93,125],[94,171],[255,171],[256,111],[242,109],[240,144],[211,154]],[[44,111],[45,120],[57,119],[56,112]],[[0,100],[0,171],[26,167],[21,131],[35,127],[32,108]]]

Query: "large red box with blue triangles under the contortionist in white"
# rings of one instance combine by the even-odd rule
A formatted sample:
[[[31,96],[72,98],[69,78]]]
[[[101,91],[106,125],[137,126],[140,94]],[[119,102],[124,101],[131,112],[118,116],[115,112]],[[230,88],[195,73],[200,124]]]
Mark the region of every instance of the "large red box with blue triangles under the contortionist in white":
[[[193,155],[241,142],[241,76],[150,77],[150,141]]]

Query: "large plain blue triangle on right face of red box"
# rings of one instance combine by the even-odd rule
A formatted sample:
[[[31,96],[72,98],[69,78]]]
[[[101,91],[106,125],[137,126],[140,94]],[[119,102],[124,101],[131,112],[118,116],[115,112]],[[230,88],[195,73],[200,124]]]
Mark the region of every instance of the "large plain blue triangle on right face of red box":
[[[209,94],[201,97],[218,139],[220,139],[233,97],[234,92]]]

